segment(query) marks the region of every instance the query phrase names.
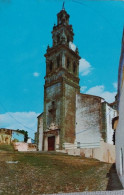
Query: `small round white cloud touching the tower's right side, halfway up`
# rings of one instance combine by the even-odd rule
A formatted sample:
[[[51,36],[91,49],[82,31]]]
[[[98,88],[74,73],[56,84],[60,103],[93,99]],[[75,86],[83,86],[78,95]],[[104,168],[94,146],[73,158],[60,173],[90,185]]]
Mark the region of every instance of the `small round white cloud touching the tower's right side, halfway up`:
[[[88,75],[92,70],[92,67],[88,61],[81,58],[79,61],[79,72],[82,76]]]

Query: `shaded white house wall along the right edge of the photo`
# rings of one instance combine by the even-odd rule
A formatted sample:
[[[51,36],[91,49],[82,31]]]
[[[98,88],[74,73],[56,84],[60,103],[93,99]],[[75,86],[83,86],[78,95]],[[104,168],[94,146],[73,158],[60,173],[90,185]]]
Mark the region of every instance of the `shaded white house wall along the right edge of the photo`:
[[[124,83],[119,104],[119,123],[116,129],[116,169],[124,187]]]

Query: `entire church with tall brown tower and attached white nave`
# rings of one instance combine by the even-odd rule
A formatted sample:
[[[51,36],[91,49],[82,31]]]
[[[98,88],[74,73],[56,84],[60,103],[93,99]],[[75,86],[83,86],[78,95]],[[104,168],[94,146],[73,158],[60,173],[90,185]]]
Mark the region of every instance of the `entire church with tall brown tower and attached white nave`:
[[[98,96],[81,94],[79,52],[63,8],[57,14],[48,46],[44,86],[44,113],[38,116],[38,150],[98,148],[101,140],[113,144],[112,118],[116,110]],[[108,146],[109,147],[109,146]]]

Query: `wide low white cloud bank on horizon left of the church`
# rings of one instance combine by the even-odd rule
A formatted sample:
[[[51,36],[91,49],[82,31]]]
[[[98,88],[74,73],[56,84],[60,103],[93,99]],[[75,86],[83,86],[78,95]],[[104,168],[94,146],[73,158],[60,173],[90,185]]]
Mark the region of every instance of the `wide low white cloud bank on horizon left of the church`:
[[[36,112],[7,112],[0,114],[0,128],[23,129],[28,131],[29,137],[34,138],[37,131]]]

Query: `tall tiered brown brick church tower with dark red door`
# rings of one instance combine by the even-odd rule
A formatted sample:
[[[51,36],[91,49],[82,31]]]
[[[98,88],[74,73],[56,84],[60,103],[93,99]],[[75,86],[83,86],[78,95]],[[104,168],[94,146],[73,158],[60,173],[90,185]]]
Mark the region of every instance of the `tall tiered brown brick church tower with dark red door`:
[[[64,5],[52,30],[52,47],[47,47],[44,85],[43,148],[62,149],[74,143],[76,93],[79,87],[78,48],[74,48],[73,29]]]

